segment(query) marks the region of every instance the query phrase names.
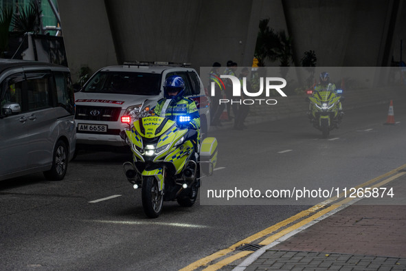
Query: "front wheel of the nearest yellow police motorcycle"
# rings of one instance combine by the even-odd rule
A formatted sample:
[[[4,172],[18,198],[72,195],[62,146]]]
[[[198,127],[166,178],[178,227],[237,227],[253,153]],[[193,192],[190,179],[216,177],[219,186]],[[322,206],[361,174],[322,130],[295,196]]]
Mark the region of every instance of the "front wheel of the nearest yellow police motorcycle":
[[[158,182],[154,176],[142,180],[142,208],[147,217],[157,218],[161,214],[163,195],[159,191]]]

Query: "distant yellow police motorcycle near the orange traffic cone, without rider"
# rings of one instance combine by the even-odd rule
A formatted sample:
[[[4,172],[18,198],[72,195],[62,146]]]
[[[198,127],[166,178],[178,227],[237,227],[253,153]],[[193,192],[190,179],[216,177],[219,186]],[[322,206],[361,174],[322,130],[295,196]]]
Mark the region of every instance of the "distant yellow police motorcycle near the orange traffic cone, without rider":
[[[309,118],[313,127],[322,131],[323,138],[327,138],[332,129],[337,129],[341,122],[342,112],[340,109],[340,101],[342,90],[322,90],[312,91],[311,96],[308,96]]]

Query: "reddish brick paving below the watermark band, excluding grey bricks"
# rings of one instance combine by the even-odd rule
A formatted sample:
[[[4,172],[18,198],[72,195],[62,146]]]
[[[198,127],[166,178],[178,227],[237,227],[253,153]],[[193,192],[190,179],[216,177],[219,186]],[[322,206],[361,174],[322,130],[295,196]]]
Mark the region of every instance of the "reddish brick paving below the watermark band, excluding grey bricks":
[[[406,258],[406,206],[352,205],[273,247]]]

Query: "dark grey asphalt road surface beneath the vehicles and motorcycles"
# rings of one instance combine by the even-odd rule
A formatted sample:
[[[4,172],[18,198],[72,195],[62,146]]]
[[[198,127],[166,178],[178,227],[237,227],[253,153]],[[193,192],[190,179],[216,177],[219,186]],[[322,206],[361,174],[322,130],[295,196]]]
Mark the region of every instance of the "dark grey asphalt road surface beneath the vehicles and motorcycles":
[[[353,187],[405,164],[406,103],[397,105],[397,125],[383,125],[388,105],[353,109],[328,139],[305,115],[212,131],[218,170],[203,180],[199,201],[165,202],[158,219],[146,218],[140,191],[124,178],[128,153],[82,153],[61,182],[41,174],[3,181],[0,269],[179,270],[313,204],[208,199],[211,186]]]

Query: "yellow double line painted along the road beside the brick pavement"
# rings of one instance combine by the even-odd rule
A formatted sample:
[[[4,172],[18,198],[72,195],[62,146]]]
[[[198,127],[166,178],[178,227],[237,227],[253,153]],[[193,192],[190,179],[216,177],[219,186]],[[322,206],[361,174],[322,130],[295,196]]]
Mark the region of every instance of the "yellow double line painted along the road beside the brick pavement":
[[[370,188],[377,188],[380,186],[383,186],[384,184],[387,184],[389,182],[392,182],[393,180],[397,179],[398,177],[401,177],[402,175],[405,175],[406,172],[401,172],[399,173],[398,171],[401,171],[402,169],[406,168],[406,164],[403,166],[399,166],[398,168],[389,171],[379,177],[375,177],[372,180],[369,180],[368,182],[364,182],[363,184],[360,184],[359,186],[356,186],[354,188],[365,188],[365,187],[370,187]],[[389,177],[392,176],[392,177]],[[387,179],[383,180],[382,182],[378,182],[379,180],[382,180],[383,178],[388,177]],[[372,185],[374,184],[374,185]],[[185,268],[182,268],[181,271],[190,271],[190,270],[195,270],[197,268],[204,268],[208,263],[215,261],[216,259],[219,259],[221,257],[225,257],[227,254],[230,252],[234,252],[236,248],[239,246],[242,246],[247,243],[251,243],[253,241],[256,241],[260,238],[264,238],[267,235],[270,235],[272,232],[275,232],[276,230],[280,230],[280,228],[283,228],[284,226],[288,226],[289,224],[292,224],[293,222],[297,221],[298,219],[302,219],[301,221],[297,222],[296,224],[293,224],[292,226],[289,226],[288,228],[285,228],[284,230],[281,230],[280,232],[277,232],[264,240],[262,240],[259,244],[260,245],[269,245],[269,243],[272,243],[273,241],[279,239],[280,237],[288,234],[289,232],[292,232],[293,230],[297,230],[297,228],[300,228],[311,221],[321,217],[322,215],[325,215],[326,213],[329,213],[332,210],[335,210],[342,206],[343,204],[348,204],[355,198],[353,197],[347,197],[346,199],[341,200],[340,202],[337,202],[336,204],[332,204],[332,202],[337,201],[338,199],[343,197],[343,193],[341,193],[339,196],[332,197],[330,199],[327,199],[325,202],[322,202],[320,204],[317,204],[311,208],[308,208],[307,210],[303,210],[300,213],[297,213],[297,215],[293,215],[293,217],[289,217],[288,219],[285,219],[284,221],[279,222],[278,224],[275,224],[269,228],[266,228],[260,232],[257,232],[255,235],[251,235],[250,237],[247,237],[241,241],[238,241],[237,243],[234,243],[234,245],[229,246],[229,248],[225,248],[223,250],[219,250],[218,252],[215,252],[214,254],[211,254],[210,256],[204,257],[203,259],[199,259],[198,261],[195,261],[194,263],[191,263],[190,265],[186,266]],[[328,206],[331,204],[330,206]],[[327,207],[326,207],[327,206]],[[317,213],[315,213],[317,211]],[[311,215],[312,213],[315,213],[314,215]],[[308,215],[311,215],[310,217],[307,217]],[[304,217],[307,217],[303,219]],[[241,251],[236,254],[232,254],[229,257],[226,257],[225,259],[218,261],[216,263],[213,263],[212,265],[208,265],[205,269],[203,270],[218,270],[222,268],[223,266],[232,263],[233,261],[236,261],[238,259],[241,259],[248,254],[251,254],[252,251]]]

